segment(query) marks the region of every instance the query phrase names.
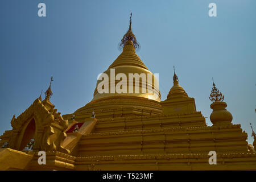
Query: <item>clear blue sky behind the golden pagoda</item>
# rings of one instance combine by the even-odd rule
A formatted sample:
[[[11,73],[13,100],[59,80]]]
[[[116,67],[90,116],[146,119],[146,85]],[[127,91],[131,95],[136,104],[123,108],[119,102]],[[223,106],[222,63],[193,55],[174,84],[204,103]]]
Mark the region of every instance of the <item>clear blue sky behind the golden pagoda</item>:
[[[46,3],[46,17],[38,4]],[[209,3],[217,17],[209,17]],[[212,77],[233,115],[251,138],[256,131],[256,1],[168,0],[0,1],[0,135],[49,86],[61,114],[92,100],[97,75],[119,55],[129,27],[141,44],[139,57],[159,73],[162,101],[171,88],[173,66],[196,108],[209,120]]]

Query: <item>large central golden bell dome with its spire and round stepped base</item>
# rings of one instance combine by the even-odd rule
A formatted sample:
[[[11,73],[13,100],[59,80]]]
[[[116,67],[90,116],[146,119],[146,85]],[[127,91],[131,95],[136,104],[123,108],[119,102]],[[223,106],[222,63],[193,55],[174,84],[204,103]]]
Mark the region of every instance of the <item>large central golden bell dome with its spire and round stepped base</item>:
[[[131,30],[131,18],[119,46],[122,53],[99,75],[92,101],[73,113],[76,119],[82,121],[92,111],[98,119],[162,114],[158,79],[135,52],[139,43]]]

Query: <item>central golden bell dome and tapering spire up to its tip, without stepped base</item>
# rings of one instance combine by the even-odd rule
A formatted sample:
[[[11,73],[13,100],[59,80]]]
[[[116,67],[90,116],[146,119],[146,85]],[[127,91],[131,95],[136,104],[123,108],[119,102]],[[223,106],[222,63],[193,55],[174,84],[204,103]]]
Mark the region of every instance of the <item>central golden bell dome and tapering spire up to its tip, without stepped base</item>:
[[[135,49],[138,47],[137,39],[135,35],[131,31],[131,19],[130,26],[127,33],[123,36],[121,45],[123,46],[123,52],[117,57],[116,60],[110,65],[110,67],[104,72],[109,76],[109,88],[110,86],[114,86],[119,82],[115,81],[115,85],[110,85],[110,69],[115,69],[115,75],[118,73],[125,73],[127,79],[129,78],[129,73],[141,73],[147,74],[149,73],[152,76],[152,88],[155,88],[155,76],[153,73],[148,71],[147,67],[144,65],[139,56],[135,53]],[[154,93],[141,93],[142,90],[142,81],[140,80],[140,93],[129,93],[129,82],[127,80],[127,93],[98,93],[97,86],[101,82],[101,80],[97,81],[96,89],[94,90],[93,100],[96,101],[100,98],[113,97],[113,96],[135,96],[135,97],[143,97],[147,99],[152,99],[160,102],[160,91],[157,89],[158,97],[154,98]],[[154,90],[152,90],[154,92]]]

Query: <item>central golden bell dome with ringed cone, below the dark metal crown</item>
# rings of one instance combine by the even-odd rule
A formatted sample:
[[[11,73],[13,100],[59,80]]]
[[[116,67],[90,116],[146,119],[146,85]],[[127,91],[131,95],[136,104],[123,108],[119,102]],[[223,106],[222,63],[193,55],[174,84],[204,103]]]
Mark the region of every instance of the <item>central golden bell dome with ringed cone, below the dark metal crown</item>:
[[[110,81],[111,76],[111,70],[114,69],[114,77],[118,73],[124,73],[127,80],[127,89],[126,93],[117,93],[117,90],[114,90],[114,93],[110,93],[110,87],[114,87],[120,82],[120,80],[115,80],[114,82]],[[112,70],[113,72],[113,70]],[[150,71],[148,71],[147,67],[144,65],[142,60],[139,58],[139,56],[135,53],[135,47],[134,44],[131,40],[127,40],[125,43],[125,46],[123,47],[123,52],[117,57],[117,59],[114,60],[114,62],[110,65],[110,67],[104,72],[106,75],[108,75],[108,84],[109,84],[109,92],[108,93],[99,93],[98,92],[98,84],[102,82],[102,80],[98,80],[96,84],[96,89],[94,90],[93,94],[93,100],[96,101],[100,98],[106,98],[106,97],[114,97],[114,96],[135,96],[135,97],[144,97],[148,98],[150,100],[155,100],[160,102],[160,92],[159,92],[159,87],[158,87],[158,80],[154,76],[154,74]],[[142,81],[142,78],[139,78],[139,93],[135,92],[135,79],[133,78],[133,92],[129,92],[129,74],[136,74],[141,75],[143,73],[146,76],[146,82]],[[151,77],[151,82],[147,81],[147,78]],[[156,87],[155,87],[155,82],[156,82]],[[143,85],[143,83],[145,85]],[[115,85],[114,85],[115,84]],[[146,93],[143,92],[142,89],[146,89]],[[155,89],[155,90],[154,90]],[[149,92],[148,92],[149,90]],[[154,94],[156,93],[156,94]]]

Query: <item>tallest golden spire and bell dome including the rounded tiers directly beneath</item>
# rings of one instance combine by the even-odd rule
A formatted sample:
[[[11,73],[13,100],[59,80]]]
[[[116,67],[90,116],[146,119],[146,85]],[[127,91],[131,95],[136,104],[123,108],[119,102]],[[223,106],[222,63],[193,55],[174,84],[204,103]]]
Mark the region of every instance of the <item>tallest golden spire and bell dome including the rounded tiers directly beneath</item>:
[[[69,115],[69,119],[72,118],[73,114],[76,114],[77,119],[80,118],[80,121],[83,121],[84,118],[89,117],[92,111],[94,110],[97,113],[97,118],[101,117],[123,117],[127,115],[152,115],[162,113],[160,105],[160,91],[155,88],[155,79],[156,77],[152,72],[150,72],[143,61],[139,58],[136,53],[136,48],[139,47],[137,39],[131,30],[131,16],[130,16],[130,25],[129,30],[123,36],[120,46],[123,48],[122,53],[113,61],[109,68],[104,72],[109,77],[109,93],[98,93],[98,84],[102,80],[98,80],[96,88],[94,90],[93,99],[91,102],[86,104],[84,107],[76,110],[75,113]],[[112,85],[110,78],[110,69],[114,69],[115,76],[118,73],[124,73],[127,77],[127,92],[126,93],[110,93],[110,87],[119,82],[119,80],[114,81]],[[152,92],[142,93],[142,79],[139,79],[139,93],[129,93],[129,73],[144,73],[146,77],[148,74],[152,77],[152,84],[147,87],[147,89],[152,88]],[[156,80],[158,84],[158,80]],[[133,81],[134,84],[134,81]],[[148,84],[148,82],[147,82]],[[154,88],[156,92],[154,93]],[[115,103],[118,103],[116,105]],[[70,120],[71,122],[71,120]]]

